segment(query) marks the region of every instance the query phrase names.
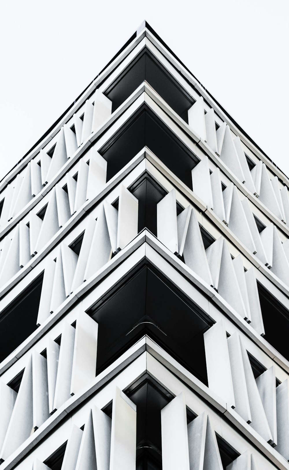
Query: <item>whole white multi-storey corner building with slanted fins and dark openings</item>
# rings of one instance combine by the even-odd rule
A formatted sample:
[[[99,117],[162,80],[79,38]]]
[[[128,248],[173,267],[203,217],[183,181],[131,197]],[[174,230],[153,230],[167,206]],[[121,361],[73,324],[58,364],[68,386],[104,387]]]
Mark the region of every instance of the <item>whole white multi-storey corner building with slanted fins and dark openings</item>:
[[[288,470],[288,187],[142,24],[0,182],[0,470]]]

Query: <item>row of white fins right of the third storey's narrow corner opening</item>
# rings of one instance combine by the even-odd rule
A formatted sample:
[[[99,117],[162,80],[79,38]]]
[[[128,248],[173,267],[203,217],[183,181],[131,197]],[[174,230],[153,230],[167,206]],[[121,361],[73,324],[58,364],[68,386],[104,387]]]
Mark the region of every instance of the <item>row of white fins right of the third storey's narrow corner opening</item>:
[[[157,237],[170,251],[183,255],[185,264],[260,335],[265,333],[254,268],[245,272],[241,255],[232,260],[222,236],[205,250],[195,209],[188,206],[177,216],[174,189],[157,204]]]

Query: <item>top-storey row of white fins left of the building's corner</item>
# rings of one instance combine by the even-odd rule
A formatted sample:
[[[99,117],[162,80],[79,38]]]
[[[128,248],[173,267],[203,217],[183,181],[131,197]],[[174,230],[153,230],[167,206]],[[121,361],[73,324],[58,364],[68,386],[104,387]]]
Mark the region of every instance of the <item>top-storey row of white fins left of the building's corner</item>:
[[[28,163],[23,174],[17,174],[16,179],[7,185],[0,227],[7,225],[10,219],[15,217],[48,182],[53,180],[67,159],[72,157],[89,135],[109,118],[111,104],[106,96],[96,90],[94,105],[89,101],[85,103],[83,120],[76,114],[73,116],[75,133],[67,124],[64,124],[58,133],[52,157],[49,157],[44,150],[40,150],[40,153]]]

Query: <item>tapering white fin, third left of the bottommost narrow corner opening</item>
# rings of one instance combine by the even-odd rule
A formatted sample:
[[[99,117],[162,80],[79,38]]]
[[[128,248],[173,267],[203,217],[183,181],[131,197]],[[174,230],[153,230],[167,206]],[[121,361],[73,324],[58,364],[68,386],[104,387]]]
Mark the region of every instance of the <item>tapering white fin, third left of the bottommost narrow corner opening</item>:
[[[78,459],[75,470],[98,470],[96,464],[95,444],[94,444],[94,427],[92,422],[92,411],[89,410],[88,419],[84,425]]]

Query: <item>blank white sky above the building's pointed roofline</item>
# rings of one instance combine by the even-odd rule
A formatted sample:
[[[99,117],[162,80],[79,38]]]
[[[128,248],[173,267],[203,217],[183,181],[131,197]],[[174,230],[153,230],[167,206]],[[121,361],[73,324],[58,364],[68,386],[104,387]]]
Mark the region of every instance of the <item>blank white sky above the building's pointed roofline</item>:
[[[0,178],[146,19],[289,175],[289,1],[0,1]]]

